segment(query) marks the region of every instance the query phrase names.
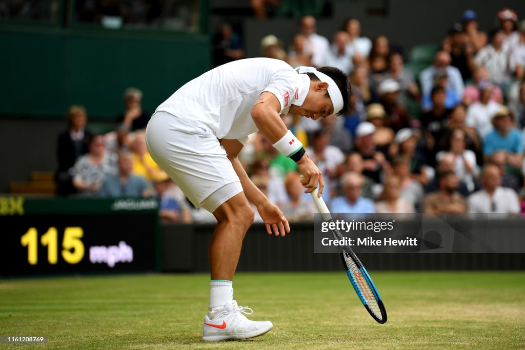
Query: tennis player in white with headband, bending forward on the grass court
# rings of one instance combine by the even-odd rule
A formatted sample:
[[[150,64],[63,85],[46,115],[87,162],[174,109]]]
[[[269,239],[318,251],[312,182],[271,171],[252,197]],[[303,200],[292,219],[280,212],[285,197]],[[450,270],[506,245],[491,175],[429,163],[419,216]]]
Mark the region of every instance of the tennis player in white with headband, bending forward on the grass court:
[[[208,258],[209,309],[203,340],[245,339],[271,330],[269,321],[250,321],[253,310],[233,300],[232,280],[246,231],[254,220],[253,203],[268,234],[290,232],[279,208],[250,181],[237,155],[248,135],[260,131],[277,150],[297,162],[305,192],[323,178],[280,114],[316,120],[348,112],[351,91],[339,69],[299,67],[269,58],[226,63],[186,83],[153,114],[146,141],[153,160],[180,186],[195,207],[217,219]]]

